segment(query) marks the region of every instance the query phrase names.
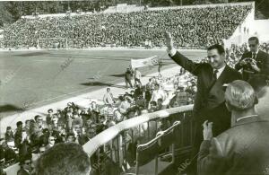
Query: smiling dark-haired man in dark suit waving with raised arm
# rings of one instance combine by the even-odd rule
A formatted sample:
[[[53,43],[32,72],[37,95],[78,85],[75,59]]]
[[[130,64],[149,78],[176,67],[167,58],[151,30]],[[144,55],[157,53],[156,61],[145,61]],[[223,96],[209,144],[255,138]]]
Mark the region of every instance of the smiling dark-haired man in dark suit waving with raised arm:
[[[230,127],[230,112],[225,107],[222,86],[225,83],[241,79],[241,74],[226,65],[225,50],[221,45],[213,45],[208,48],[207,57],[210,63],[199,64],[184,57],[173,48],[173,40],[169,32],[165,36],[169,57],[179,66],[197,76],[197,93],[193,110],[195,118],[193,156],[196,156],[203,141],[202,124],[205,120],[213,121],[213,134],[216,136]]]

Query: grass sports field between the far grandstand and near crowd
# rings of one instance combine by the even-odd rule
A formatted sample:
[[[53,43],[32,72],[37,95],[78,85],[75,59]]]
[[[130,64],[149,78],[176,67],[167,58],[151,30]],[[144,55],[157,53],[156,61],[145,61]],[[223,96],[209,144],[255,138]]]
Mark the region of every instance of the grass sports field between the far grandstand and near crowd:
[[[183,52],[191,59],[202,51]],[[176,66],[164,50],[45,50],[0,52],[0,112],[61,101],[124,81],[131,58],[159,56],[162,68]],[[140,69],[143,74],[158,66]]]

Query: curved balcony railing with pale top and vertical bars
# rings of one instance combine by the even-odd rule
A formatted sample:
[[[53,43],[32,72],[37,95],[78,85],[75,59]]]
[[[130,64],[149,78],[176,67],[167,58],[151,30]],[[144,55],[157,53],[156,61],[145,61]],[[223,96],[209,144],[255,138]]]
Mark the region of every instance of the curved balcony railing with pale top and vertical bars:
[[[136,145],[146,143],[156,136],[160,123],[169,127],[176,120],[181,122],[176,131],[176,138],[173,139],[176,154],[186,156],[190,153],[193,140],[192,109],[193,105],[187,105],[143,114],[122,121],[93,137],[83,145],[84,151],[91,157],[93,174],[119,174],[120,171],[126,171],[130,165],[134,166]],[[130,155],[132,153],[129,153],[132,152],[132,146],[133,160]],[[166,153],[171,153],[171,150]],[[113,164],[114,170],[105,170],[106,162],[109,161]]]

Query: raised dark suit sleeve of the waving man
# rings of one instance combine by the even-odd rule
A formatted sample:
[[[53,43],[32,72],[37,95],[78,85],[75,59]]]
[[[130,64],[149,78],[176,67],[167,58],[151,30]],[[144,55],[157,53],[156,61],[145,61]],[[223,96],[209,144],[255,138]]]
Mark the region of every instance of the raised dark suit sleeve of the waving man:
[[[185,68],[191,74],[197,75],[199,71],[199,66],[201,64],[195,63],[188,59],[187,57],[180,54],[178,51],[175,56],[171,57],[179,66]]]

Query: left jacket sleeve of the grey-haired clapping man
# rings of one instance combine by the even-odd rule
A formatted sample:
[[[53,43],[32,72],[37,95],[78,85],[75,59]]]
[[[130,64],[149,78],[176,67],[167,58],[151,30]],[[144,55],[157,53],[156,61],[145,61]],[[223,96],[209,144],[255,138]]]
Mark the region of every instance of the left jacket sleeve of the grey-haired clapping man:
[[[216,138],[212,141],[203,141],[197,159],[198,175],[222,174],[226,169],[219,141]]]

